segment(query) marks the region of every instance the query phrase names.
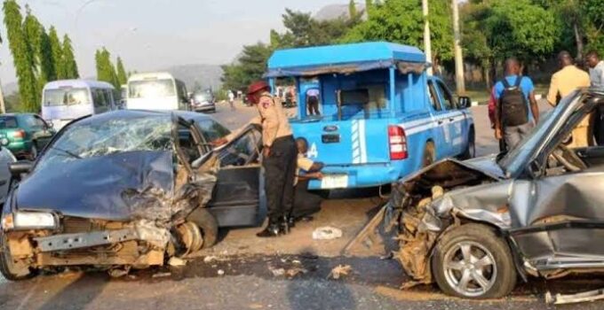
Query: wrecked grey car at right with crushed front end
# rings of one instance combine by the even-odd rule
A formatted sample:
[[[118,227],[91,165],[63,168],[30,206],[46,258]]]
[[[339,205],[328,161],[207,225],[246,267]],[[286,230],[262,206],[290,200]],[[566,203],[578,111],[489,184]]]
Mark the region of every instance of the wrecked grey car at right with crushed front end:
[[[395,256],[407,274],[449,295],[500,298],[517,278],[604,271],[604,145],[566,146],[602,105],[604,89],[576,91],[513,151],[445,159],[399,182],[388,214],[400,215]]]

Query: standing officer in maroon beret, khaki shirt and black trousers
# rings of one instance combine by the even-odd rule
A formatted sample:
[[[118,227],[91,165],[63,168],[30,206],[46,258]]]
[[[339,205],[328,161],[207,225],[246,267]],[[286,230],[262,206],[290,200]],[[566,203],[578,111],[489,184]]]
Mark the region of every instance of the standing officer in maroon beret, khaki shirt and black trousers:
[[[271,96],[265,81],[248,88],[248,99],[256,105],[262,124],[262,165],[268,225],[256,236],[279,236],[289,232],[288,216],[293,207],[294,179],[298,150],[291,134],[290,122],[281,102]]]

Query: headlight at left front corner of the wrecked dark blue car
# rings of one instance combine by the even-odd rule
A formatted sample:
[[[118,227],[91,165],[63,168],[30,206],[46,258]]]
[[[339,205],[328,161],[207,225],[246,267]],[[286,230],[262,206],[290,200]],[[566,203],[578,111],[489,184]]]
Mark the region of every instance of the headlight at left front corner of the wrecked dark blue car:
[[[2,229],[57,229],[59,219],[53,213],[42,212],[15,212],[7,213],[2,217]]]

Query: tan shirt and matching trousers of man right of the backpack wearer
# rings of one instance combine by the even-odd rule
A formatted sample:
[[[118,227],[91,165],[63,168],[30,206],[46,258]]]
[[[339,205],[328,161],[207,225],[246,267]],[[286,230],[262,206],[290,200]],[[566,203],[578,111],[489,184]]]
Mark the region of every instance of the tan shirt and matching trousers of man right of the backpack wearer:
[[[562,70],[552,75],[552,83],[550,85],[550,91],[547,93],[547,102],[552,105],[558,105],[557,97],[567,97],[571,92],[576,89],[589,87],[590,78],[589,74],[576,66],[565,66]],[[573,129],[572,137],[573,140],[568,147],[577,148],[585,147],[590,145],[590,119],[591,116],[587,115],[581,122]]]

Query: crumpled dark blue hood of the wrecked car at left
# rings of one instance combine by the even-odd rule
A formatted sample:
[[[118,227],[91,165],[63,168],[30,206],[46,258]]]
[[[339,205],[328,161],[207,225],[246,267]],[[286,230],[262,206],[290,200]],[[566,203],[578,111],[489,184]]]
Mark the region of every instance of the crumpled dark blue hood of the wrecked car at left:
[[[70,160],[35,170],[12,192],[12,205],[21,211],[128,221],[174,196],[173,170],[171,151]]]

